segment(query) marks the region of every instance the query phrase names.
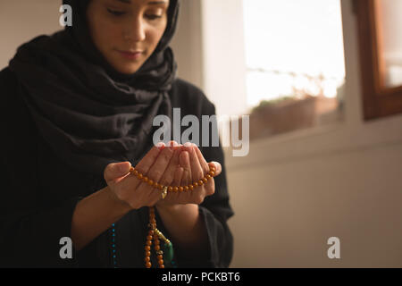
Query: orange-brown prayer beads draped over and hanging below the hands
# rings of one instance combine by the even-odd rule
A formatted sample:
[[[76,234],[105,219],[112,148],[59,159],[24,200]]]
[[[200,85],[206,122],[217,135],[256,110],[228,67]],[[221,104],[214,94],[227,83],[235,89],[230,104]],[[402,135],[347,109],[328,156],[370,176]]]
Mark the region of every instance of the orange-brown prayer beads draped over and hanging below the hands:
[[[187,186],[164,186],[158,182],[152,181],[147,176],[144,176],[141,172],[138,172],[134,167],[130,168],[130,173],[137,176],[138,180],[146,182],[149,186],[154,187],[155,189],[163,190],[163,198],[166,196],[167,192],[187,192],[189,190],[193,190],[198,186],[202,186],[208,180],[214,177],[215,175],[215,167],[212,164],[209,164],[209,172],[198,181],[194,181],[192,184]],[[156,228],[156,220],[155,220],[155,207],[149,207],[149,223],[148,223],[149,231],[147,233],[147,241],[145,246],[145,265],[147,268],[151,268],[151,247],[154,241],[154,248],[156,253],[156,259],[158,261],[159,268],[164,268],[164,261],[163,261],[163,250],[160,246],[160,239],[164,242],[164,250],[165,250],[165,260],[169,264],[172,264],[172,242],[167,240],[163,233]],[[168,259],[166,259],[168,258]]]

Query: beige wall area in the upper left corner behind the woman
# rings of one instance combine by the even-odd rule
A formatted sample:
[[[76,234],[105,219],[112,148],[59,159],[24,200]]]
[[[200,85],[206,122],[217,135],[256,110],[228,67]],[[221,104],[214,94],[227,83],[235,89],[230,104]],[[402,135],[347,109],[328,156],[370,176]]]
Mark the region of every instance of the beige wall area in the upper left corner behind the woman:
[[[21,44],[62,29],[59,24],[61,4],[62,0],[0,1],[0,70],[8,65]]]

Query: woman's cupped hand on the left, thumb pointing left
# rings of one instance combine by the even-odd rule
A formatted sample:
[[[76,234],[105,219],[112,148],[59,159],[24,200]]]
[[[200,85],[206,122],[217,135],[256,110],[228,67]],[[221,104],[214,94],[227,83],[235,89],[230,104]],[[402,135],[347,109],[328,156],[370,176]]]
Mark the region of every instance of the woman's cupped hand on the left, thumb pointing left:
[[[147,155],[138,162],[135,166],[136,170],[163,185],[172,184],[174,172],[166,171],[176,170],[175,164],[178,164],[178,159],[176,160],[178,154],[175,150],[178,147],[174,141],[171,141],[169,146],[164,146],[162,142],[159,143],[152,147]],[[134,175],[130,175],[130,167],[130,162],[113,163],[106,166],[104,177],[113,198],[129,206],[130,209],[155,206],[162,198],[161,190],[149,186]]]

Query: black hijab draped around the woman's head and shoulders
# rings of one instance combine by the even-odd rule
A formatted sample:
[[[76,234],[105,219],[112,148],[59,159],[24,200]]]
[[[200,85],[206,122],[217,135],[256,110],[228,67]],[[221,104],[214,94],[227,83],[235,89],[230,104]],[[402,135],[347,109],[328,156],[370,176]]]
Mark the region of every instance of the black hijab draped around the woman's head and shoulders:
[[[172,119],[168,91],[177,65],[169,45],[180,0],[155,52],[131,75],[113,70],[90,39],[88,0],[64,0],[72,26],[18,48],[10,69],[41,136],[66,164],[101,175],[107,164],[135,165],[152,142],[157,114]]]

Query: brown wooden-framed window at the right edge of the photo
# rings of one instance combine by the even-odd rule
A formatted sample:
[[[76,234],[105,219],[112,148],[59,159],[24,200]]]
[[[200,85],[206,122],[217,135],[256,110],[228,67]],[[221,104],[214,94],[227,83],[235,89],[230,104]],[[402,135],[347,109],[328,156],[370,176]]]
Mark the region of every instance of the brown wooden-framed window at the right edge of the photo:
[[[364,119],[402,113],[402,1],[354,0]]]

